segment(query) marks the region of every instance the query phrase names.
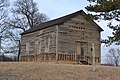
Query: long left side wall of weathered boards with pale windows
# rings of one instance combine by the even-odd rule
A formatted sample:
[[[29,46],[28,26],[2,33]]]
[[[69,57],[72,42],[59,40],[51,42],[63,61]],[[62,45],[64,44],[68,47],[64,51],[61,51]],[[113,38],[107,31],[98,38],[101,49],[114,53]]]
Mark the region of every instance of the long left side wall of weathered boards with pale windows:
[[[22,35],[21,56],[56,52],[56,27]]]

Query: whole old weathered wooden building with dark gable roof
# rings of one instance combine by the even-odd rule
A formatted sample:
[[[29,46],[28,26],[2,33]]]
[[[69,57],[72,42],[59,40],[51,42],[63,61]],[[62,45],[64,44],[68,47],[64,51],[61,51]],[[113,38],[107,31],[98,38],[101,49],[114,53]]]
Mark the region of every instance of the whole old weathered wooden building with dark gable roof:
[[[21,60],[63,60],[100,63],[103,31],[83,10],[30,28],[21,34]]]

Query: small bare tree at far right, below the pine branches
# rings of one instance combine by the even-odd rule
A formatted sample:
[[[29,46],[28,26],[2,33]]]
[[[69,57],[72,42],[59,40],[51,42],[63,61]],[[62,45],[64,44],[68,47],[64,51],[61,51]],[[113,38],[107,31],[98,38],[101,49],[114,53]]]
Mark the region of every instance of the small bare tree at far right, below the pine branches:
[[[106,55],[106,63],[109,65],[119,66],[120,63],[120,49],[109,50],[109,54]]]

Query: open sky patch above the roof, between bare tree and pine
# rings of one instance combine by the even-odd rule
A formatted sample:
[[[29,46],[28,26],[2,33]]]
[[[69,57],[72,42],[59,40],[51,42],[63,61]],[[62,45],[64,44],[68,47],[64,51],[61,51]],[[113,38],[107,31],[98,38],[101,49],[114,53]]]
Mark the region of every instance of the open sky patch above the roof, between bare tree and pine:
[[[39,10],[51,19],[76,12],[83,9],[88,2],[86,0],[35,0]]]

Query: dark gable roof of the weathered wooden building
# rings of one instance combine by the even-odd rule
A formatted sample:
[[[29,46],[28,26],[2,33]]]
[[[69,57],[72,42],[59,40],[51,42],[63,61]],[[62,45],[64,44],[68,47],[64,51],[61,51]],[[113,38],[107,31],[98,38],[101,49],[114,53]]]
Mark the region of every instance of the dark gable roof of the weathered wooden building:
[[[32,32],[35,32],[35,31],[38,31],[38,30],[41,30],[41,29],[45,29],[45,28],[48,28],[50,26],[62,24],[64,22],[66,22],[67,20],[69,20],[69,19],[71,19],[71,18],[73,18],[73,17],[75,17],[76,15],[79,15],[79,14],[83,14],[83,15],[87,16],[87,14],[83,10],[80,10],[80,11],[77,11],[75,13],[72,13],[72,14],[54,19],[54,20],[44,22],[44,23],[42,23],[42,24],[40,24],[36,27],[32,27],[29,30],[23,32],[21,35],[32,33]],[[90,17],[89,17],[89,19],[99,28],[100,31],[103,31],[103,29],[99,25],[97,25]]]

